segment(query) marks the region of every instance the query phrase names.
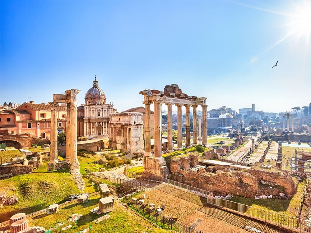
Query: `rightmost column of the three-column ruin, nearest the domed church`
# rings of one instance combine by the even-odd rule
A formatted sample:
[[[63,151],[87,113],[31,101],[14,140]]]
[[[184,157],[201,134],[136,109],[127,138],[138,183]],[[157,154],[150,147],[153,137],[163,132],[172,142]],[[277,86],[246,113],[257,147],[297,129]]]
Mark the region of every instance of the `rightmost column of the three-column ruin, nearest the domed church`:
[[[77,156],[77,94],[80,90],[71,89],[66,91],[68,101],[70,101],[70,170],[77,169],[79,170],[80,164]],[[66,147],[67,152],[67,147]]]

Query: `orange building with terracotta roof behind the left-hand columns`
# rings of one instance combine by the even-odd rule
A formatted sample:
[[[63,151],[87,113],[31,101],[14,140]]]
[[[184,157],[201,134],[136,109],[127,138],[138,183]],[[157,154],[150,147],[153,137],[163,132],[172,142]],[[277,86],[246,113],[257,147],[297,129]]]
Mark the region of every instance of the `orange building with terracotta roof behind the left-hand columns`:
[[[66,131],[67,110],[58,107],[58,131]],[[15,109],[0,111],[0,128],[9,134],[28,133],[34,138],[49,139],[51,107],[49,104],[25,102]]]

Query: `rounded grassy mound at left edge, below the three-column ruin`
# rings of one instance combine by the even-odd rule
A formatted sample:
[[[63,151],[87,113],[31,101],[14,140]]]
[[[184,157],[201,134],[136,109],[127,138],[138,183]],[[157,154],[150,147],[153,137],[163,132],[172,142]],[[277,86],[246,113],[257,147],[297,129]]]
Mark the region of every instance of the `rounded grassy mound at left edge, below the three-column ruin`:
[[[4,190],[7,196],[16,193],[19,200],[14,205],[0,208],[1,221],[8,220],[15,213],[28,214],[51,204],[61,203],[69,194],[81,192],[67,168],[53,172],[47,172],[45,169],[45,172],[34,172],[0,180],[0,192]]]

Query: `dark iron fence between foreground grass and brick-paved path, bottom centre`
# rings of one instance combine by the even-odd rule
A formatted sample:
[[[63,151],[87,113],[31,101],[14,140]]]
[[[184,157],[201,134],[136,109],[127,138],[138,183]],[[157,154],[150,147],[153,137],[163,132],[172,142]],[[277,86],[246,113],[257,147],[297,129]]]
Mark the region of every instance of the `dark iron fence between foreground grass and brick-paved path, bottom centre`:
[[[159,214],[158,212],[149,208],[148,203],[145,204],[136,200],[132,200],[132,195],[124,195],[122,201],[127,203],[127,205],[139,215],[145,217],[149,221],[157,224],[158,226],[161,226],[164,229],[174,230],[179,233],[203,233],[202,231],[197,231],[191,226],[186,226],[181,222],[177,222],[177,218],[174,216]]]

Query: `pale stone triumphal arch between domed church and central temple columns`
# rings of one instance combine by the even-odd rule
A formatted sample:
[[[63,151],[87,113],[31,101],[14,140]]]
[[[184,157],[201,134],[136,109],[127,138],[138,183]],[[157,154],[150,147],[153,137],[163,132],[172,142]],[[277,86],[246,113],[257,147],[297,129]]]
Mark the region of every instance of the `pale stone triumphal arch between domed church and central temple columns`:
[[[114,113],[110,115],[109,122],[110,148],[128,153],[144,150],[142,113]]]

